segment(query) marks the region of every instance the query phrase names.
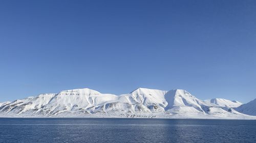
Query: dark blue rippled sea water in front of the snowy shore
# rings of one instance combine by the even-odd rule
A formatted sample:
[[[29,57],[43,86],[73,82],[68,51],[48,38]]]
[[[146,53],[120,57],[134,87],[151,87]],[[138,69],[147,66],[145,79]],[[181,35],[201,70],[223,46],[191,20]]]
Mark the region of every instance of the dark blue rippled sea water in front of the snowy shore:
[[[256,142],[256,121],[0,118],[0,142]]]

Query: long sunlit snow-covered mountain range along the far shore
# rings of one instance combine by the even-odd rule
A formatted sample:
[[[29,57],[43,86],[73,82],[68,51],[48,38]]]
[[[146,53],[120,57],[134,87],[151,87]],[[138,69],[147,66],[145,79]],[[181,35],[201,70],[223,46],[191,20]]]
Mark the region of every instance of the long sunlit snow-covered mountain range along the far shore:
[[[185,90],[139,88],[117,96],[75,89],[0,103],[0,117],[256,119],[233,109],[240,104],[200,100]]]

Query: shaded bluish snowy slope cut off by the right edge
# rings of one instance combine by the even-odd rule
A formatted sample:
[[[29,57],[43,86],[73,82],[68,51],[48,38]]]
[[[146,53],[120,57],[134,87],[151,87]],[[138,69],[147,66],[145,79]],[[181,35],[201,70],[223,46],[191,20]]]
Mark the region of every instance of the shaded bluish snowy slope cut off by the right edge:
[[[256,116],[256,99],[237,107],[236,110],[247,115]]]

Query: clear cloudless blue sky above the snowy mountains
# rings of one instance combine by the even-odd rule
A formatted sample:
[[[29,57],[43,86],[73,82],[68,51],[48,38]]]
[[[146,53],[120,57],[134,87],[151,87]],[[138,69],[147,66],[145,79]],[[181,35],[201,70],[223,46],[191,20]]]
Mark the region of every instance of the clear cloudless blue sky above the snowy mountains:
[[[256,98],[256,1],[0,1],[0,101],[90,88]]]

